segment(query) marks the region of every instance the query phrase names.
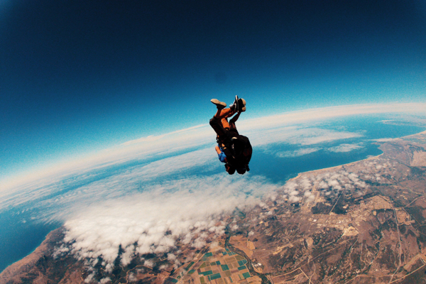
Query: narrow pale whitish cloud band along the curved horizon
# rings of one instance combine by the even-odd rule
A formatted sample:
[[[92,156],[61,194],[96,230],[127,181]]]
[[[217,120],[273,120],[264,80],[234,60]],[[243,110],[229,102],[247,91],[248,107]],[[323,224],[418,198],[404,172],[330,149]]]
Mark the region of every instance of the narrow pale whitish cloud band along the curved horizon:
[[[241,133],[253,137],[253,145],[261,145],[283,140],[283,137],[278,135],[280,132],[276,131],[277,128],[284,128],[283,130],[285,130],[286,126],[306,124],[312,121],[324,121],[335,117],[386,113],[423,115],[426,113],[426,104],[364,104],[326,107],[322,109],[293,111],[275,116],[247,120],[244,120],[243,116],[239,121],[238,127]],[[273,129],[275,129],[275,131],[273,131]],[[268,135],[271,135],[268,130],[272,130],[272,132],[278,136],[268,137]],[[256,133],[262,133],[262,136],[256,137]],[[283,133],[283,135],[285,135],[285,133]],[[135,159],[145,160],[165,153],[173,153],[178,150],[210,145],[210,143],[212,143],[212,136],[214,137],[212,129],[210,129],[208,124],[205,124],[166,133],[160,136],[139,138],[86,157],[77,157],[75,160],[58,163],[51,168],[33,170],[31,173],[25,173],[20,176],[1,180],[0,198],[6,197],[11,190],[25,190],[27,188],[26,185],[33,184],[37,180],[43,180],[43,178],[45,178],[45,180],[50,180],[56,177],[81,173],[84,170],[92,170],[96,167],[125,163],[126,161]],[[266,141],[264,141],[262,137],[266,138]],[[315,141],[306,137],[304,145],[320,142],[320,140]],[[4,179],[4,177],[0,178]]]

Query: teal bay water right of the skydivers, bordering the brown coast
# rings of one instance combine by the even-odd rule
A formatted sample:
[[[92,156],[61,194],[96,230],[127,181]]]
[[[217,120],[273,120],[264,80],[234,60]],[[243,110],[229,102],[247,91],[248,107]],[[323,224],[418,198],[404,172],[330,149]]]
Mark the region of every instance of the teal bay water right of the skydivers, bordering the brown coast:
[[[362,137],[359,138],[343,139],[310,146],[278,143],[271,147],[275,153],[280,151],[297,151],[302,148],[321,148],[321,150],[307,155],[279,158],[273,153],[268,153],[269,151],[265,152],[262,151],[261,148],[254,148],[250,163],[251,173],[266,176],[266,178],[269,178],[273,182],[283,182],[290,178],[294,178],[298,173],[344,165],[357,160],[363,160],[371,155],[380,155],[383,152],[378,149],[380,145],[376,143],[376,141],[373,141],[375,139],[398,138],[425,131],[425,127],[420,126],[383,124],[379,122],[383,119],[385,118],[380,116],[336,119],[334,121],[327,121],[327,124],[322,124],[320,126],[325,129],[361,133]],[[362,145],[362,148],[342,153],[327,151],[327,149],[339,146],[342,143],[359,143]]]

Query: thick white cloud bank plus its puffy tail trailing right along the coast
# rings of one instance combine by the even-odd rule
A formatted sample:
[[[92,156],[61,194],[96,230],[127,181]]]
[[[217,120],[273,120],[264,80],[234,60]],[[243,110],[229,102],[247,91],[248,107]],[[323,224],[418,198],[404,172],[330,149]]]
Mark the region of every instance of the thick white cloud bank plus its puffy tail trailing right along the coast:
[[[361,196],[369,187],[367,180],[381,182],[383,175],[396,174],[390,161],[365,160],[364,165],[359,173],[344,169],[307,173],[283,186],[250,175],[170,180],[153,184],[151,190],[92,206],[75,205],[75,213],[65,222],[66,244],[57,253],[74,253],[89,266],[102,258],[107,271],[114,268],[119,247],[124,249],[122,266],[146,253],[164,255],[173,262],[179,253],[178,244],[200,249],[224,234],[223,217],[236,207],[263,206],[262,197],[278,203],[299,203],[313,202],[317,196],[334,199],[343,190]],[[180,264],[175,262],[176,266]],[[146,265],[152,263],[147,261]]]

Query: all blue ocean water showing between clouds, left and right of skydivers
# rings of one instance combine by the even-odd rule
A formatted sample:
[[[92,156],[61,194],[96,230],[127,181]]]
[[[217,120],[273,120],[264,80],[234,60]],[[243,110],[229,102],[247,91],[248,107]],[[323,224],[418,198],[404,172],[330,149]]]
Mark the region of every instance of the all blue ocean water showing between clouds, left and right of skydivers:
[[[371,155],[379,155],[382,152],[378,149],[380,145],[376,143],[375,139],[398,138],[425,131],[424,127],[409,125],[401,121],[383,122],[384,119],[386,119],[385,116],[354,117],[334,119],[320,125],[322,129],[361,133],[356,138],[330,141],[313,146],[276,143],[268,146],[269,151],[261,147],[254,147],[250,173],[251,175],[262,175],[271,182],[283,184],[285,180],[295,177],[297,173],[329,168],[362,160]],[[359,148],[356,151],[330,151],[330,149],[334,149],[342,145],[342,143],[359,145]],[[312,151],[312,148],[315,148],[315,151]],[[288,153],[302,153],[300,151],[304,149],[306,150],[304,154],[288,155]],[[214,150],[212,149],[212,151]],[[287,154],[279,155],[279,153]],[[173,153],[173,155],[177,154]],[[143,163],[149,162],[145,160]],[[90,179],[82,180],[80,183],[76,181],[75,184],[65,187],[64,191],[75,190],[94,180],[108,177],[114,171],[126,170],[126,168],[135,165],[138,165],[137,162],[104,169],[95,173]],[[200,173],[200,170],[197,170]],[[221,166],[212,170],[203,170],[202,172],[205,175],[214,175],[224,173],[224,168]],[[40,245],[49,231],[62,225],[58,222],[50,224],[35,222],[31,219],[31,216],[34,216],[34,212],[29,214],[27,209],[26,207],[19,207],[0,213],[0,271],[3,271],[11,263],[27,256]]]

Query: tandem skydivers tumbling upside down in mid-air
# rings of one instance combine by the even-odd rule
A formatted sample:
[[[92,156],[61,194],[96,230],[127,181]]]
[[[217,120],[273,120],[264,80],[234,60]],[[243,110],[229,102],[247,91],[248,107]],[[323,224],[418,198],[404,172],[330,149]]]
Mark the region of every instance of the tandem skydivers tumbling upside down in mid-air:
[[[210,119],[210,126],[217,133],[217,146],[215,147],[219,160],[225,163],[226,172],[233,175],[235,171],[244,175],[249,171],[252,148],[249,138],[239,135],[235,122],[239,119],[241,112],[246,111],[246,101],[235,96],[234,103],[227,109],[224,102],[212,99],[216,105],[217,112]],[[234,116],[235,114],[235,116]],[[234,116],[229,122],[229,117]]]

